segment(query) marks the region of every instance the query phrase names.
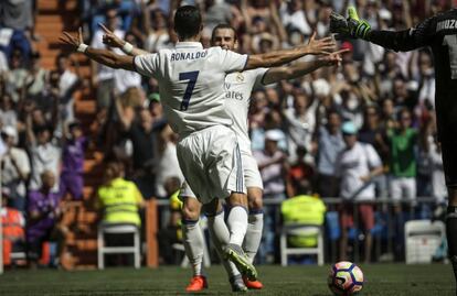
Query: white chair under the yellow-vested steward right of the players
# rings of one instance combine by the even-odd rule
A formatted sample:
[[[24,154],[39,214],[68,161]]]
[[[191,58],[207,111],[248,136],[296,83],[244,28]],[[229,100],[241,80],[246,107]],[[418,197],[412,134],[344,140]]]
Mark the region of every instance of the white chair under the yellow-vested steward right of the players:
[[[315,224],[288,224],[280,232],[280,264],[287,266],[288,255],[317,255],[318,265],[323,265],[323,233],[322,227]],[[315,248],[293,248],[287,244],[287,235],[318,235]]]

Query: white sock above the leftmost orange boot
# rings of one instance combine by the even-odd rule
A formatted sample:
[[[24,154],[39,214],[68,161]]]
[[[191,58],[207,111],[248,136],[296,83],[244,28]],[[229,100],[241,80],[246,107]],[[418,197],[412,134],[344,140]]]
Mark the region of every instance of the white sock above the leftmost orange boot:
[[[204,239],[199,220],[182,220],[182,242],[193,276],[202,275]]]

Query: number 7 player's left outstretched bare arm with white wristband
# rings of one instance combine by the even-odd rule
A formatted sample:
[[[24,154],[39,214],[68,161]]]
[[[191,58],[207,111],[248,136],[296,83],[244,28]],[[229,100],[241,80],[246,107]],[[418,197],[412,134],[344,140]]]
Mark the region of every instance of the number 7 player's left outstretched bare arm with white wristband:
[[[83,30],[79,28],[77,37],[72,36],[68,32],[63,32],[60,41],[63,44],[70,45],[74,51],[85,54],[88,58],[100,63],[110,68],[121,68],[126,70],[135,70],[134,57],[128,55],[118,55],[108,50],[96,50],[84,44]]]

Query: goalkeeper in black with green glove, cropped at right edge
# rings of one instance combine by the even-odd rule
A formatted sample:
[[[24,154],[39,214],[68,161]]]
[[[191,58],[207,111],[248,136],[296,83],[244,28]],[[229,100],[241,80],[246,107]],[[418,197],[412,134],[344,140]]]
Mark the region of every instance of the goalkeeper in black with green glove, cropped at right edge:
[[[435,59],[436,121],[448,189],[446,234],[454,275],[457,278],[457,9],[434,15],[404,31],[375,31],[360,20],[353,7],[348,19],[330,17],[330,31],[340,37],[362,39],[396,52],[428,46]]]

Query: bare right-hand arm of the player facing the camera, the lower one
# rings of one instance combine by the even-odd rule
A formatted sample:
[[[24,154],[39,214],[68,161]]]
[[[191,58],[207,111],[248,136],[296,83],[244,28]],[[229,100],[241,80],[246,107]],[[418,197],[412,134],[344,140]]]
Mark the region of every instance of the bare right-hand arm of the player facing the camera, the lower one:
[[[262,83],[264,85],[275,84],[280,80],[295,79],[301,77],[321,67],[339,66],[342,61],[340,54],[346,53],[349,50],[341,50],[329,55],[323,55],[315,61],[298,63],[290,67],[270,68],[265,73]]]

